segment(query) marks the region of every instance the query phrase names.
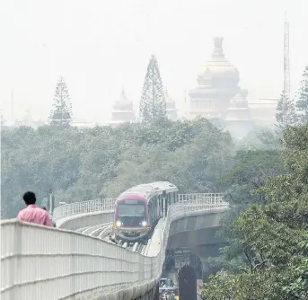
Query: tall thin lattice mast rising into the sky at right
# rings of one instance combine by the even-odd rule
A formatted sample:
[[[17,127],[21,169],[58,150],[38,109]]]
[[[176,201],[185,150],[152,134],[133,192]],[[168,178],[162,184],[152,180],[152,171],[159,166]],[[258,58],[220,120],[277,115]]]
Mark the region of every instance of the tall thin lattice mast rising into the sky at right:
[[[290,60],[289,60],[289,22],[286,21],[285,12],[285,32],[284,32],[284,98],[285,101],[290,99]],[[286,105],[284,105],[286,107]],[[283,117],[284,125],[286,124],[286,113]]]

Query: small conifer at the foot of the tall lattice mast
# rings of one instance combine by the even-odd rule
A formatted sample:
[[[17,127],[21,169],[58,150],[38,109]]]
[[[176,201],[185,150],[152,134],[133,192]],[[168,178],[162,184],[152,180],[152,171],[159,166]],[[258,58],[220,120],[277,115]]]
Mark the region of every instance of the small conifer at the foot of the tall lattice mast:
[[[297,123],[298,117],[295,111],[295,103],[283,91],[277,103],[276,120],[278,128],[286,128]]]

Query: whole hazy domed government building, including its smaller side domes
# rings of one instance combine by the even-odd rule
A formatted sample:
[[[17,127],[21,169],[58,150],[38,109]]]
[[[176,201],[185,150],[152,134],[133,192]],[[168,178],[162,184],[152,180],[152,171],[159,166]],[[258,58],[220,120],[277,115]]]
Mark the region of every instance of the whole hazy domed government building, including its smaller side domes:
[[[223,38],[214,39],[212,57],[201,66],[197,76],[197,86],[189,90],[189,111],[185,118],[198,116],[213,121],[221,121],[234,137],[244,137],[252,128],[272,127],[275,123],[277,99],[247,101],[249,91],[239,85],[240,73],[225,57]],[[179,118],[176,101],[167,90],[167,117]],[[124,90],[119,100],[113,104],[110,126],[124,122],[136,122],[133,102],[128,101]]]

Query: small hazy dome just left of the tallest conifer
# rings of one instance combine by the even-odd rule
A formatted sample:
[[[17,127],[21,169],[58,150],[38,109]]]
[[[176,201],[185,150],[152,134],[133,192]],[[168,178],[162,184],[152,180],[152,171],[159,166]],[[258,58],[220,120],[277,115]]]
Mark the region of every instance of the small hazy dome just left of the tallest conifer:
[[[128,101],[124,89],[120,94],[119,100],[113,105],[111,112],[110,126],[115,127],[126,122],[135,122],[136,116],[133,110],[133,102]]]

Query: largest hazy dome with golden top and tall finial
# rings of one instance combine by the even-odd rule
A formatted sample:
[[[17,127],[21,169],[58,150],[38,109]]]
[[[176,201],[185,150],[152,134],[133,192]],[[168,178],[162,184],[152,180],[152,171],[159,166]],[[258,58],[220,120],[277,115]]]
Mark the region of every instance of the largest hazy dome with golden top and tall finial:
[[[239,92],[240,75],[224,57],[223,38],[214,39],[212,59],[198,74],[198,87],[189,91],[189,119],[225,119],[230,100]]]

